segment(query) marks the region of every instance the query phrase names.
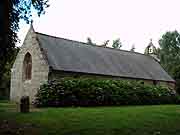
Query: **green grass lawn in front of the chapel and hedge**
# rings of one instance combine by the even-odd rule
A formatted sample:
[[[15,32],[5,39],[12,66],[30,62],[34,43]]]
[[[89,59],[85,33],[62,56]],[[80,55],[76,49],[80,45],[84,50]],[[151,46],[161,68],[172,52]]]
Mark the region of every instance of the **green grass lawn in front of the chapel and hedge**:
[[[180,135],[180,105],[43,108],[28,114],[16,108],[0,101],[0,120],[35,125],[43,135]]]

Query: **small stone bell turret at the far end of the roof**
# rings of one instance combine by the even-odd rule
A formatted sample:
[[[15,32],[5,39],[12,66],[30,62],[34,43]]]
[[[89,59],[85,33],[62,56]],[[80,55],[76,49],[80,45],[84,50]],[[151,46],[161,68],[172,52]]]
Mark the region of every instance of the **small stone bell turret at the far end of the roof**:
[[[150,43],[148,44],[148,46],[146,47],[145,51],[144,51],[145,55],[149,55],[151,57],[153,57],[157,62],[160,62],[160,59],[158,59],[157,57],[157,49],[156,47],[153,45],[152,43],[152,39],[150,39]]]

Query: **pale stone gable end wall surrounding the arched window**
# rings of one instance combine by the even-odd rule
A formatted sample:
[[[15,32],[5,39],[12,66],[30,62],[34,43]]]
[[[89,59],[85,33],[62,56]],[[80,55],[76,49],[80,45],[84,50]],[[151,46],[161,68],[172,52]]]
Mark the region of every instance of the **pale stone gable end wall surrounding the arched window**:
[[[29,52],[32,57],[31,80],[23,79],[23,61],[27,52]],[[31,28],[11,71],[10,99],[19,102],[22,96],[27,95],[32,102],[40,84],[48,80],[48,73],[49,66],[47,60],[41,51],[34,30]]]

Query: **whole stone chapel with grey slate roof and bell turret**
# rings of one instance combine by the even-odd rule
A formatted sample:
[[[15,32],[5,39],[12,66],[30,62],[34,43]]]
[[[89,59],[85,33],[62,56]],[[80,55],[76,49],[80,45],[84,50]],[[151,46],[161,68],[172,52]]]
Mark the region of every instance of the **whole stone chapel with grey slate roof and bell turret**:
[[[145,54],[35,32],[31,26],[11,70],[10,99],[33,101],[41,84],[63,77],[141,80],[174,88],[152,41]]]

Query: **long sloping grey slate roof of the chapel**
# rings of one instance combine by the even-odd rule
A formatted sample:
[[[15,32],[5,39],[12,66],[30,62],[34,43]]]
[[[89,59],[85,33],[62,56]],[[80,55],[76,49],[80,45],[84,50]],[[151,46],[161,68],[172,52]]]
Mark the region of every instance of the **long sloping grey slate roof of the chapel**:
[[[37,33],[54,70],[174,82],[152,57]]]

